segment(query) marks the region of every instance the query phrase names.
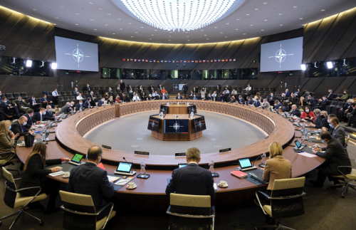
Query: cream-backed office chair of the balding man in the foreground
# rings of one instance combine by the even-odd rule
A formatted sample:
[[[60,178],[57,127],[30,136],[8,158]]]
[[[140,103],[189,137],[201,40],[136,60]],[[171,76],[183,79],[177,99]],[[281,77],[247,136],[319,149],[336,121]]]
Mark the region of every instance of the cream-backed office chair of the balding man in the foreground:
[[[63,229],[67,230],[99,230],[105,229],[108,221],[115,216],[112,211],[114,204],[108,203],[103,209],[95,210],[93,199],[90,195],[75,194],[72,192],[59,191],[64,210]],[[106,207],[111,207],[108,216],[97,219],[98,214]]]

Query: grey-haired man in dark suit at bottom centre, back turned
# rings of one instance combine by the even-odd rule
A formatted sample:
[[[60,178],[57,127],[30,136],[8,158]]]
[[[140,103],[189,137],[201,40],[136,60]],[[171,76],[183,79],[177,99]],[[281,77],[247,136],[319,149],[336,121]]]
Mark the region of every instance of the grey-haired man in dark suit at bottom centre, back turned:
[[[215,199],[214,180],[211,172],[199,167],[200,151],[196,147],[187,150],[188,165],[174,169],[172,179],[167,185],[166,194],[209,195]]]

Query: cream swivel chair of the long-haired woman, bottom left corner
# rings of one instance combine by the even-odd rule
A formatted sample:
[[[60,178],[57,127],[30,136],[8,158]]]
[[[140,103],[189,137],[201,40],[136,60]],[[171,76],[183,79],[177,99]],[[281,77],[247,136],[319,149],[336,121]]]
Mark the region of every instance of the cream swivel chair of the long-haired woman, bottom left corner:
[[[13,214],[9,214],[7,216],[1,217],[0,221],[18,214],[16,216],[16,219],[14,220],[14,222],[12,222],[12,224],[9,228],[9,229],[11,229],[12,226],[14,226],[14,224],[16,223],[16,221],[20,218],[20,216],[22,214],[27,214],[28,216],[32,217],[33,219],[38,220],[40,226],[43,226],[44,223],[43,223],[43,221],[41,221],[41,219],[38,219],[36,216],[33,216],[32,214],[28,213],[24,209],[26,209],[28,207],[28,205],[32,202],[38,202],[43,199],[46,199],[47,198],[46,193],[41,193],[41,187],[29,187],[29,188],[24,188],[24,189],[17,189],[15,181],[18,179],[21,179],[21,178],[14,179],[12,174],[8,170],[6,170],[4,167],[2,168],[2,171],[4,172],[4,176],[6,179],[6,182],[5,182],[6,191],[5,191],[5,196],[4,196],[4,203],[11,209],[20,207],[20,210],[14,212]],[[26,197],[26,196],[19,194],[19,191],[23,191],[23,190],[27,190],[27,189],[38,189],[38,192],[33,197]],[[0,222],[0,225],[1,225],[1,222]]]

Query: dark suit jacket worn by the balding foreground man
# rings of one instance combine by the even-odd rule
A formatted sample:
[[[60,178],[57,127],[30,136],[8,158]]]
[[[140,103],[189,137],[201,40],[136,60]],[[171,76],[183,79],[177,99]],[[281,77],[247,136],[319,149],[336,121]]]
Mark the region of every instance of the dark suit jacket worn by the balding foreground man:
[[[108,173],[95,164],[86,162],[70,171],[67,192],[90,195],[95,210],[99,211],[105,204],[104,197],[114,196],[114,184],[109,182]]]

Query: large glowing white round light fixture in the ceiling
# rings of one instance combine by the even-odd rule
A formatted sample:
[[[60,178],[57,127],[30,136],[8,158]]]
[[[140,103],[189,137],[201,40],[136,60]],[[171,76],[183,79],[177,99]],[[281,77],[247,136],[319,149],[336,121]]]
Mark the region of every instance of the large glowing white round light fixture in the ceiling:
[[[121,0],[137,19],[157,28],[191,31],[214,23],[231,9],[235,1]]]

